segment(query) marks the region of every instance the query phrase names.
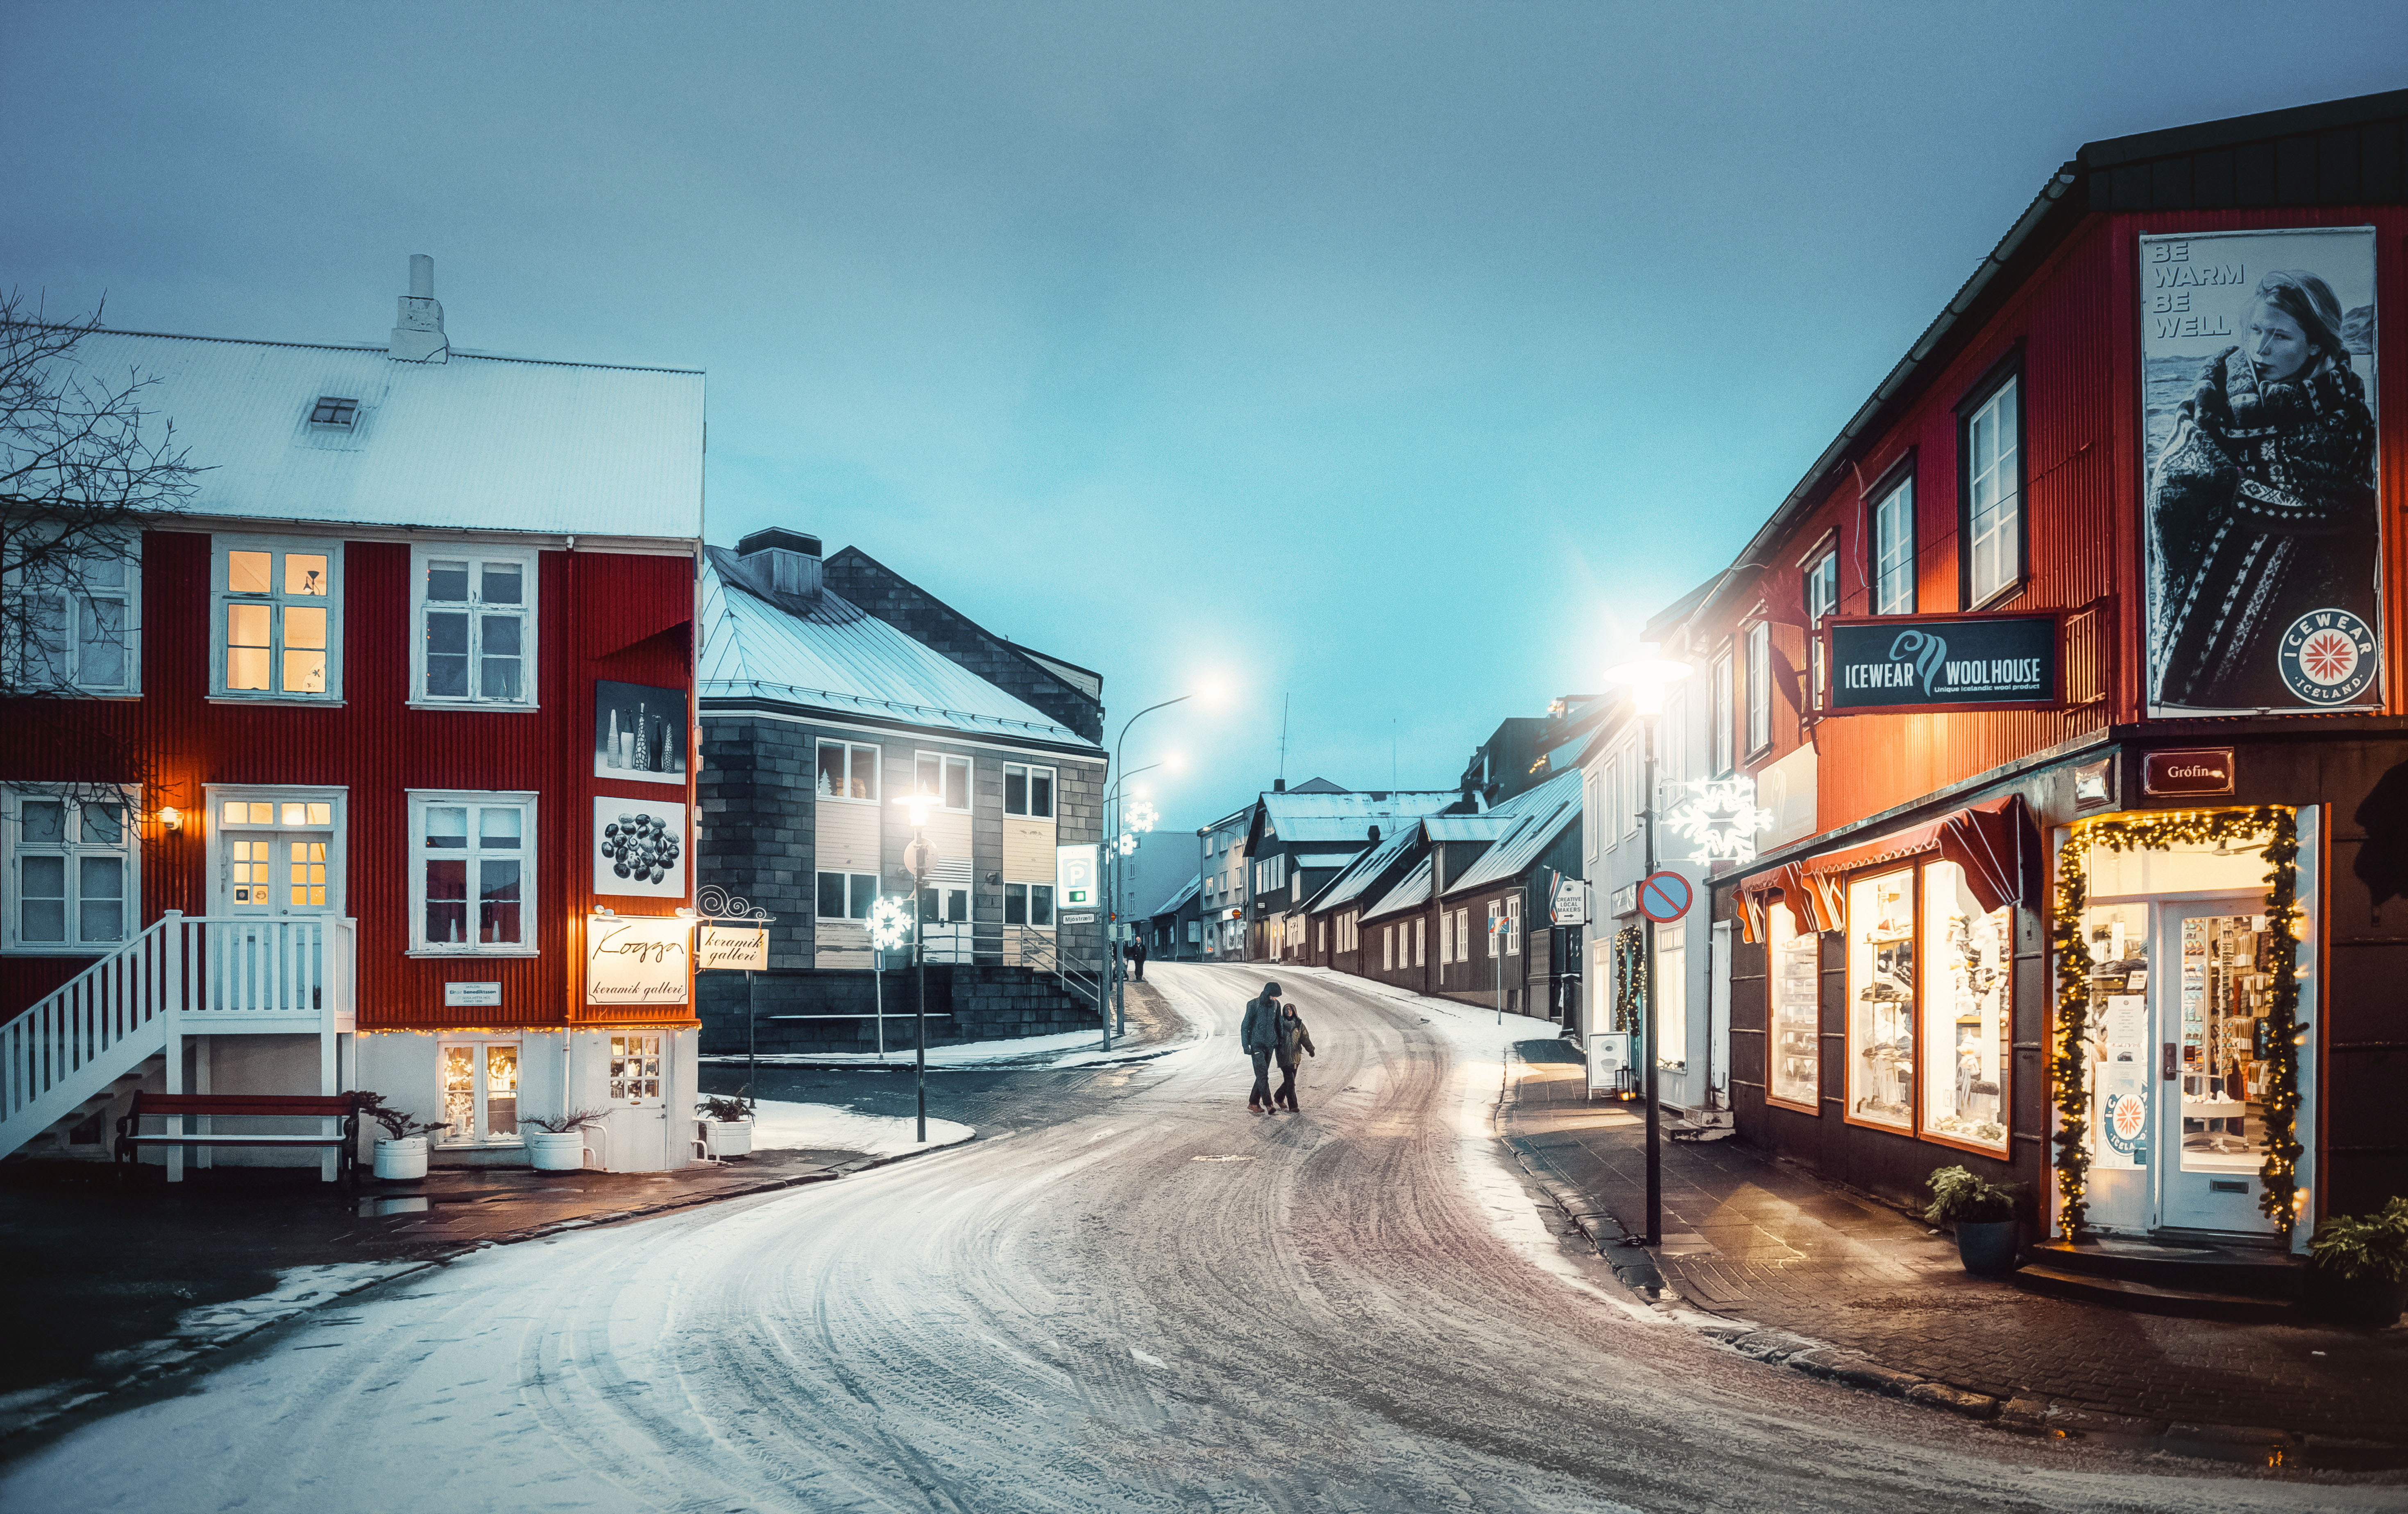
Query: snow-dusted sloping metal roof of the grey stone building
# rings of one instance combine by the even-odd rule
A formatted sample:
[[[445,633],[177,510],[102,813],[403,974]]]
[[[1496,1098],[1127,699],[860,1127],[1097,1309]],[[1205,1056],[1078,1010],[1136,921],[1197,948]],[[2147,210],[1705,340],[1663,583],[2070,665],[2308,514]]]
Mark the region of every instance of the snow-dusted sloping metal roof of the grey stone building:
[[[958,662],[915,643],[831,590],[773,604],[730,582],[725,546],[703,551],[701,698],[756,698],[954,729],[1002,741],[1043,741],[1079,753],[1103,749],[1055,725]]]

